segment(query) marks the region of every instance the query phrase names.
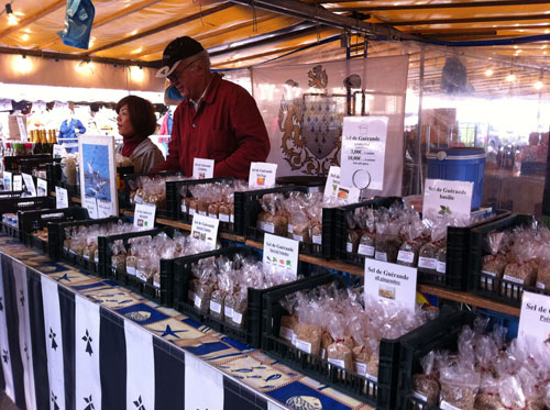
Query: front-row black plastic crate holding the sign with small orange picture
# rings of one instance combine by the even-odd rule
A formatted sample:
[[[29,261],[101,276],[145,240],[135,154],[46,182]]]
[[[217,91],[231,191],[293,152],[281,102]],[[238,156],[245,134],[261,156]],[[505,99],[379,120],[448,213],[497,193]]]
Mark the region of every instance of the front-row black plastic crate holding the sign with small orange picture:
[[[346,280],[348,278],[341,275],[319,275],[265,293],[262,350],[285,365],[360,401],[376,406],[377,409],[394,409],[402,337],[382,339],[377,381],[331,365],[327,359],[302,352],[279,339],[280,318],[286,314],[279,303],[280,299],[296,291],[312,289],[333,281],[337,281],[340,287],[345,287]]]

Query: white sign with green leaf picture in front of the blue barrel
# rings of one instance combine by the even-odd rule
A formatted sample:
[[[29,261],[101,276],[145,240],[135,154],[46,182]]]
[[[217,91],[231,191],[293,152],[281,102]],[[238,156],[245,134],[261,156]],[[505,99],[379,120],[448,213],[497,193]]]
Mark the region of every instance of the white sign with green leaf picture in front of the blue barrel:
[[[422,215],[452,215],[468,218],[472,210],[473,182],[446,179],[426,179]]]

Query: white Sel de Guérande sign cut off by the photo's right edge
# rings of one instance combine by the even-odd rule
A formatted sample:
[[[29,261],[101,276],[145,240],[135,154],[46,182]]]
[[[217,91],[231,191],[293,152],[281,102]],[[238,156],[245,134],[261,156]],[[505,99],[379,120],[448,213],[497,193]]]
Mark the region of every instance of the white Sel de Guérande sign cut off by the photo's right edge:
[[[535,337],[550,343],[550,296],[524,290],[518,339]]]

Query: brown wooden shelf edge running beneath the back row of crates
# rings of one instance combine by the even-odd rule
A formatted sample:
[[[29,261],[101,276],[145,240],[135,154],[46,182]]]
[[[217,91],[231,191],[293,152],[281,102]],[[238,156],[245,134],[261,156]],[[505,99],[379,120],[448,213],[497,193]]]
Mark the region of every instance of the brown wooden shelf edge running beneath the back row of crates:
[[[252,247],[256,247],[258,250],[263,248],[263,244],[261,244],[260,242],[248,240],[245,242],[245,244],[249,246],[252,246]],[[359,276],[364,275],[364,268],[362,268],[360,266],[355,266],[355,265],[344,264],[344,263],[338,262],[338,261],[329,261],[329,259],[323,259],[323,258],[308,256],[308,255],[301,255],[301,254],[299,255],[299,261],[308,262],[310,264],[320,265],[320,266],[323,266],[323,267],[327,267],[330,269],[334,269],[334,270],[348,272],[352,275],[359,275]],[[475,306],[479,308],[484,308],[484,309],[488,309],[488,310],[494,310],[496,312],[506,313],[506,314],[510,314],[514,317],[519,317],[519,309],[518,308],[515,308],[515,307],[512,307],[512,306],[508,306],[505,303],[499,303],[497,301],[494,301],[494,300],[491,300],[487,298],[482,298],[482,297],[475,296],[475,295],[470,293],[470,292],[459,291],[459,290],[449,290],[449,289],[444,289],[441,287],[431,286],[431,285],[422,285],[422,284],[418,285],[417,290],[420,292],[437,296],[437,297],[442,298],[442,299],[448,299],[448,300],[452,300],[455,302],[472,304],[472,306]]]

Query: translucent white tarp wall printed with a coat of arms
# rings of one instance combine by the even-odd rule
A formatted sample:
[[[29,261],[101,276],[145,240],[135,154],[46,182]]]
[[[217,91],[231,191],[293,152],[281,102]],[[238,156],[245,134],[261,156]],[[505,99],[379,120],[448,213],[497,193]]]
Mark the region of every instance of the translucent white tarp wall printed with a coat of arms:
[[[408,56],[307,65],[265,65],[252,69],[253,96],[271,138],[267,158],[277,175],[326,175],[340,164],[346,85],[355,114],[389,118],[384,190],[400,195]],[[370,192],[371,193],[371,192]]]

